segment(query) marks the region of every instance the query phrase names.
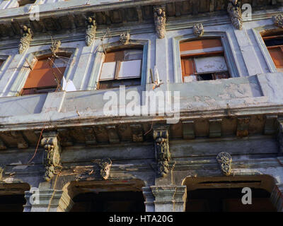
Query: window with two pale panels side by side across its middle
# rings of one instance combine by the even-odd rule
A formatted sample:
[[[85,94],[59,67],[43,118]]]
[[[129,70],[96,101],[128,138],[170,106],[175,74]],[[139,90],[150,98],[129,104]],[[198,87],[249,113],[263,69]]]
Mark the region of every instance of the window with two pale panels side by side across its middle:
[[[123,49],[106,53],[98,89],[141,85],[142,54],[141,49]]]

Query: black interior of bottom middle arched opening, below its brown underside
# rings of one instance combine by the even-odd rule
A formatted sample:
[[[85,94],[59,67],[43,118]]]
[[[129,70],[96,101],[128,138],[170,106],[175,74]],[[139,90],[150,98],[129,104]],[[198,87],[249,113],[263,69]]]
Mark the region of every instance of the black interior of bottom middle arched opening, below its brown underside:
[[[144,212],[141,191],[115,191],[79,194],[71,212]]]

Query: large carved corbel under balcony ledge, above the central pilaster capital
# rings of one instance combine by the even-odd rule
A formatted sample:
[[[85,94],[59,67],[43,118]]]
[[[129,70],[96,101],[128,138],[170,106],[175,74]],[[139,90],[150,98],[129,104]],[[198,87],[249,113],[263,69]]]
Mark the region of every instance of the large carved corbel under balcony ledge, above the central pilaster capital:
[[[171,160],[168,129],[163,128],[154,130],[154,147],[158,165],[158,175],[165,177],[169,172],[168,162]]]

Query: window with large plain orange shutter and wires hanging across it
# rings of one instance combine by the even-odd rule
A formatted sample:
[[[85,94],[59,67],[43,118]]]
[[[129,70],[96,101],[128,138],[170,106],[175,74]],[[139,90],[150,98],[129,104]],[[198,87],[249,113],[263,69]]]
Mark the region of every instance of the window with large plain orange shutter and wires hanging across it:
[[[42,57],[30,71],[21,95],[49,93],[58,90],[68,64],[68,57]]]

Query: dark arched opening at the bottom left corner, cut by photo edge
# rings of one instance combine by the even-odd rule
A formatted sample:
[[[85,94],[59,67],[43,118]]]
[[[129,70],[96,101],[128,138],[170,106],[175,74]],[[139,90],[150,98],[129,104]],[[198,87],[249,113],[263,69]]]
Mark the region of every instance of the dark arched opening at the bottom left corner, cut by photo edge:
[[[0,184],[0,212],[23,212],[28,184]]]

